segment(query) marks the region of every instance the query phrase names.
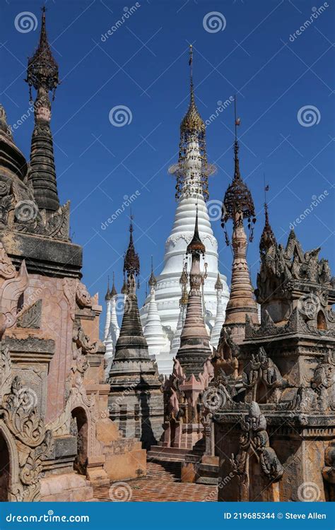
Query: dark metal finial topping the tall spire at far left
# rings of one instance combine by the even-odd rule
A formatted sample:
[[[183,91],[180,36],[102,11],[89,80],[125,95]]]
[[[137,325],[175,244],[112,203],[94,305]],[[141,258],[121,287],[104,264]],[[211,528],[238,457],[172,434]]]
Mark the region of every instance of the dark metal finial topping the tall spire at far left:
[[[28,59],[27,78],[25,81],[29,85],[30,100],[32,100],[32,86],[37,91],[40,90],[40,88],[43,88],[46,92],[52,90],[54,99],[55,90],[59,85],[58,64],[52,56],[51,48],[47,40],[45,11],[45,6],[43,6],[39,45],[35,54],[33,54],[33,57]]]

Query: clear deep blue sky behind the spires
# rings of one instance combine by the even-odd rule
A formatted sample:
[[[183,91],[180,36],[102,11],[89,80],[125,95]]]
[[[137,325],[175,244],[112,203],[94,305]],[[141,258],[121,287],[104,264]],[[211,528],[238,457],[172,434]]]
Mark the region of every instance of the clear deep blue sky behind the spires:
[[[37,45],[40,5],[1,3],[0,100],[8,122],[19,124],[15,140],[27,157],[33,117],[20,124],[29,107],[23,80],[27,57]],[[136,195],[141,301],[151,254],[155,272],[162,269],[175,213],[175,182],[167,168],[177,160],[179,126],[187,110],[190,42],[203,119],[237,93],[240,167],[258,219],[248,251],[253,281],[264,222],[264,173],[278,240],[286,243],[290,223],[302,216],[296,228],[302,246],[322,246],[321,255],[335,268],[332,1],[131,0],[125,6],[124,1],[48,0],[46,6],[62,81],[52,107],[59,196],[63,203],[71,199],[71,233],[84,247],[83,281],[92,294],[98,291],[103,301],[112,271],[117,289],[122,285],[129,208],[124,206],[107,228],[102,223],[122,208],[124,196]],[[29,25],[19,25],[24,11],[33,13],[30,31]],[[124,126],[110,121],[110,111],[119,106],[128,109]],[[218,167],[209,184],[211,201],[222,200],[233,175],[233,105],[217,113],[206,131],[208,160]],[[311,208],[313,197],[321,194]],[[307,208],[313,211],[303,215]],[[221,272],[230,278],[231,254],[219,220],[213,230]]]

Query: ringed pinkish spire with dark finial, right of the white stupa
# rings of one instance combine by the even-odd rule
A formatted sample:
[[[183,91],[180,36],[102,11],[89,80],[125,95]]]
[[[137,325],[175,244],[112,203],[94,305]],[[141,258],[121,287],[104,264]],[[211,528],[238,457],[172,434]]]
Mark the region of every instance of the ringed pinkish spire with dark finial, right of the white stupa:
[[[230,285],[230,298],[225,309],[225,325],[234,328],[234,335],[241,338],[245,333],[245,317],[249,314],[252,322],[258,323],[257,305],[254,300],[254,290],[250,281],[247,264],[247,235],[243,220],[247,218],[250,229],[249,240],[252,240],[252,226],[256,218],[254,216],[254,201],[245,182],[240,175],[240,162],[238,158],[239,145],[237,141],[237,125],[240,119],[236,118],[235,105],[235,143],[234,160],[235,171],[233,182],[228,186],[223,199],[222,225],[228,220],[233,220],[233,270]],[[228,238],[226,232],[226,239]]]

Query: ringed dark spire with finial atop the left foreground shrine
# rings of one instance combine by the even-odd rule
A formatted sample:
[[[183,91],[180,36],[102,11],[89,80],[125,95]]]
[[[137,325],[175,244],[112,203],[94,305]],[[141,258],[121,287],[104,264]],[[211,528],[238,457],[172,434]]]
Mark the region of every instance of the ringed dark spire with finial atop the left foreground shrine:
[[[29,180],[33,184],[34,195],[39,208],[57,211],[59,198],[57,192],[56,170],[54,166],[54,146],[50,129],[51,102],[49,91],[53,94],[59,85],[58,65],[52,57],[45,28],[45,7],[42,8],[40,42],[33,57],[28,59],[27,81],[30,88],[37,91],[35,100],[35,127],[31,141]]]

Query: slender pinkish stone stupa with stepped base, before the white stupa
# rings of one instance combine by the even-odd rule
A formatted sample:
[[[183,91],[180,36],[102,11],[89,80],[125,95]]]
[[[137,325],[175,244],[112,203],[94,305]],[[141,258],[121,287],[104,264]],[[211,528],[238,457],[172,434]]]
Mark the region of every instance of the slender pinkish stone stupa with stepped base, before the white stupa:
[[[182,480],[185,482],[213,482],[217,472],[213,466],[211,452],[206,446],[206,425],[203,399],[213,377],[209,336],[203,314],[201,287],[205,272],[201,271],[201,256],[206,248],[198,230],[198,213],[194,235],[187,246],[192,257],[189,272],[189,295],[180,348],[177,352],[173,372],[164,384],[165,423],[163,442],[153,447],[149,457],[182,461]],[[186,271],[185,271],[186,275]],[[216,460],[214,459],[215,464]],[[213,467],[215,468],[213,470]]]

